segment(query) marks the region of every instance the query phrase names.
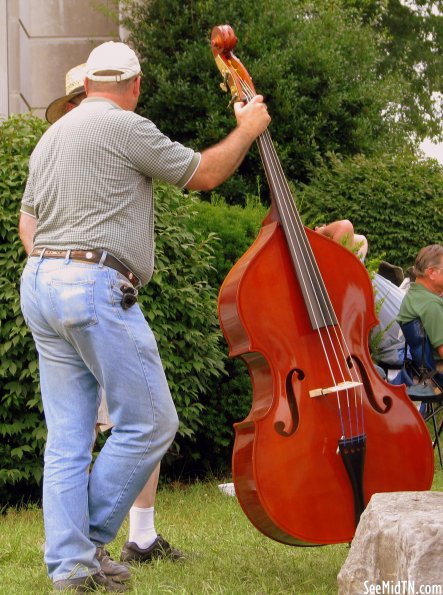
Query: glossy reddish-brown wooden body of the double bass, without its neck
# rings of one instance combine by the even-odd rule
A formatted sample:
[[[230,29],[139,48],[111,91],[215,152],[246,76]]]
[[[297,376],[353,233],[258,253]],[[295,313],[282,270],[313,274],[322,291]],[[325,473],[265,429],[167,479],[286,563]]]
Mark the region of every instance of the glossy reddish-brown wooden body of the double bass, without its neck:
[[[371,362],[368,337],[377,319],[366,269],[346,248],[306,233],[332,288],[349,365],[362,377],[364,504],[377,492],[427,490],[434,471],[428,431],[404,388],[384,382]],[[355,495],[337,447],[342,427],[336,395],[309,394],[329,386],[330,371],[277,222],[262,227],[226,277],[219,318],[230,355],[246,363],[253,386],[251,411],[234,426],[233,479],[245,514],[286,544],[350,541]],[[352,403],[350,408],[345,403],[347,427],[357,424]]]

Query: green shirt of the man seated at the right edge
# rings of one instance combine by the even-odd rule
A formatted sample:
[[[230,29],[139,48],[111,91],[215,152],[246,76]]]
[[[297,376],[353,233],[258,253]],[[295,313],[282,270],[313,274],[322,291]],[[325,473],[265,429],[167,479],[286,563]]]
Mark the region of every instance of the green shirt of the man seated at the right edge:
[[[434,349],[443,345],[443,298],[420,283],[412,283],[397,316],[400,323],[420,318]]]

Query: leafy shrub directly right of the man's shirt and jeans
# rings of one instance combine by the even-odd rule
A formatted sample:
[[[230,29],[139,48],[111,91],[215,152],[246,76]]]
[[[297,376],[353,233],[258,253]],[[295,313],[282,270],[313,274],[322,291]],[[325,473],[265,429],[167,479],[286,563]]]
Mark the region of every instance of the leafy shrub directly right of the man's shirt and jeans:
[[[156,336],[180,419],[176,453],[185,447],[192,459],[197,454],[191,443],[204,423],[204,395],[224,371],[226,360],[217,294],[208,282],[215,238],[188,230],[196,205],[192,196],[158,184],[155,201],[155,272],[140,292],[139,303]]]

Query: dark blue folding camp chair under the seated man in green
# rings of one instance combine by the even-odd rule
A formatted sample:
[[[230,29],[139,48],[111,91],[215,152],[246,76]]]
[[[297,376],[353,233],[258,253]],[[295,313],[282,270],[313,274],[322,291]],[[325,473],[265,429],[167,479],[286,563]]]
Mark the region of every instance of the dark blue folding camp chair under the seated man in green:
[[[443,411],[443,374],[437,371],[432,345],[427,337],[421,320],[416,318],[400,325],[406,340],[403,381],[412,401],[421,401],[420,412],[426,422],[430,421],[434,432],[433,445],[437,448],[440,465],[443,469],[440,436],[443,431],[443,418],[440,423],[438,414]],[[409,347],[409,350],[407,349]],[[409,376],[409,382],[408,377]],[[409,385],[409,386],[408,386]]]

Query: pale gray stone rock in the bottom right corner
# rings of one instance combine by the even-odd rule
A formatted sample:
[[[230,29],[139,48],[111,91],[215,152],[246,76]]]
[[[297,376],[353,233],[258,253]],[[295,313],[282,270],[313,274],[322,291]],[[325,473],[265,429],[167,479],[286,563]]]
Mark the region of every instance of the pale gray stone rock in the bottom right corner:
[[[374,494],[337,580],[339,595],[443,595],[443,493]]]

